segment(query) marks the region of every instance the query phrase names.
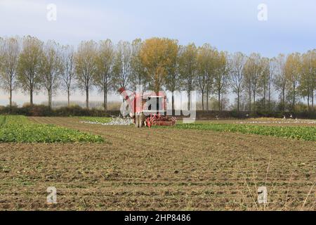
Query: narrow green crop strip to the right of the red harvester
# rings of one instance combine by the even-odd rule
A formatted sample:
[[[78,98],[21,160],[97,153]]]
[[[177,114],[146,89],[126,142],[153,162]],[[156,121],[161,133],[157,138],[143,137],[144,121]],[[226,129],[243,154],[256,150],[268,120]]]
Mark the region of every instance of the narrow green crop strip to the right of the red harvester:
[[[242,134],[259,134],[305,141],[316,141],[316,127],[275,127],[246,124],[177,124],[176,129],[229,131]]]

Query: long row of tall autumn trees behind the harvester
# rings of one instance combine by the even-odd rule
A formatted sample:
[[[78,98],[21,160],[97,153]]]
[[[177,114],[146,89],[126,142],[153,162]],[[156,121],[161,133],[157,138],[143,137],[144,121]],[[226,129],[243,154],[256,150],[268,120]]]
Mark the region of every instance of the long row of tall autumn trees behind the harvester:
[[[236,96],[236,110],[246,101],[247,110],[272,110],[272,96],[279,94],[279,110],[295,110],[296,104],[305,98],[308,110],[314,109],[316,89],[316,49],[306,53],[280,54],[265,58],[258,53],[230,54],[204,44],[181,46],[177,40],[152,38],[119,41],[110,39],[82,41],[77,49],[61,46],[55,41],[45,43],[36,37],[0,38],[1,86],[10,96],[21,89],[29,93],[33,104],[34,92],[45,90],[48,106],[58,90],[70,96],[78,88],[86,94],[88,108],[89,91],[96,86],[104,96],[107,110],[107,94],[119,88],[172,93],[185,90],[190,107],[190,91],[198,90],[202,96],[203,110],[209,110],[209,98],[215,95],[223,110],[223,95],[232,92]],[[172,98],[173,104],[173,98]]]

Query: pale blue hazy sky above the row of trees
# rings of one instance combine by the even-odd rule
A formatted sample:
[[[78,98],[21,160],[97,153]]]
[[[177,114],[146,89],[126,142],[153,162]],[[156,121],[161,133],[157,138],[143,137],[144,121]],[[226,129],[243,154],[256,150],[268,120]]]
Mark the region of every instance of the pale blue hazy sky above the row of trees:
[[[49,4],[56,6],[56,20]],[[261,8],[264,4],[266,8]],[[266,9],[266,10],[265,10]],[[264,20],[263,20],[264,18]],[[80,41],[169,37],[180,44],[209,43],[219,50],[279,53],[316,47],[315,0],[0,0],[0,37],[32,35],[77,46]],[[28,96],[15,93],[21,104]],[[55,96],[65,100],[65,95]],[[80,93],[74,100],[82,100]],[[96,91],[91,100],[101,100]],[[34,96],[35,103],[46,95]],[[0,93],[0,105],[8,96]]]

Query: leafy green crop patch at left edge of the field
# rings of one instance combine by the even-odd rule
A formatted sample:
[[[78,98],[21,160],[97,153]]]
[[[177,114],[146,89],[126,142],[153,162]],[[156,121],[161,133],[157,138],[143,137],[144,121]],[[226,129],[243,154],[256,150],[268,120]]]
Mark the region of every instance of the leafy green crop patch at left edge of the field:
[[[86,132],[57,127],[53,124],[34,124],[24,116],[0,116],[2,143],[100,143],[103,138]]]

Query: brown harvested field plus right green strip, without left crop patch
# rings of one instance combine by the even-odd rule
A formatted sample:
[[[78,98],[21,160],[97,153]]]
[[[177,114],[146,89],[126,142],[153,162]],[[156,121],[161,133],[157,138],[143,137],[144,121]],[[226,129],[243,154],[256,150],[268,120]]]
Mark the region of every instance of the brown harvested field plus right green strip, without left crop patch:
[[[103,141],[2,141],[0,210],[316,210],[315,121],[136,129],[84,117],[18,120]],[[57,204],[46,203],[48,186]],[[258,204],[259,186],[268,204]]]

